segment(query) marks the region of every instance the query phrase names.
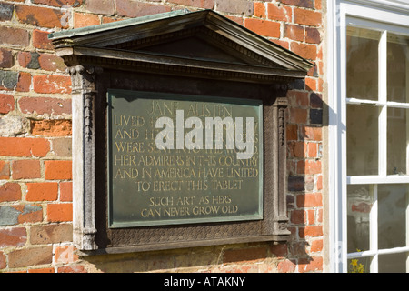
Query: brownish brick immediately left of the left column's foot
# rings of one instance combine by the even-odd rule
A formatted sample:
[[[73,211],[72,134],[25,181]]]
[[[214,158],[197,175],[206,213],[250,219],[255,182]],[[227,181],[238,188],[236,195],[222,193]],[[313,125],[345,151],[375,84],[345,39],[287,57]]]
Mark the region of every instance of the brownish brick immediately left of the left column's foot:
[[[72,240],[73,226],[71,224],[31,226],[30,228],[32,245],[58,244]]]

